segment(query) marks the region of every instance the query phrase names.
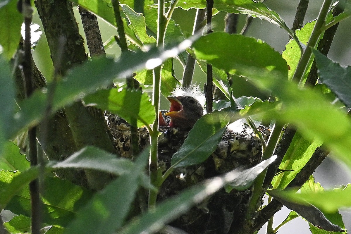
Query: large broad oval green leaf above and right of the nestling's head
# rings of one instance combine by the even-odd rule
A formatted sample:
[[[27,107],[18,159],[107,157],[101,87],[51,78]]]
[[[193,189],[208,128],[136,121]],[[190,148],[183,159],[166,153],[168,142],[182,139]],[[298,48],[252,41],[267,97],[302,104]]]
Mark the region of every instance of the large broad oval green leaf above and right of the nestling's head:
[[[198,59],[206,60],[231,74],[248,78],[259,75],[287,79],[286,61],[272,47],[259,39],[217,32],[203,36],[193,44],[193,47]]]

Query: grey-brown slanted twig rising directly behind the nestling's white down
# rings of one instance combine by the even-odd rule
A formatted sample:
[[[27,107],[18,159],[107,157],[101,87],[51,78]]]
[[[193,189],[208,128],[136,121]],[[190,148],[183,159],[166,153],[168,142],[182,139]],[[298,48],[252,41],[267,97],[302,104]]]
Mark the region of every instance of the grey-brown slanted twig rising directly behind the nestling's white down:
[[[201,22],[205,19],[205,14],[205,9],[197,9],[193,27],[193,35],[201,28],[200,25]],[[183,87],[185,88],[190,86],[193,79],[195,62],[196,60],[190,54],[188,54],[183,72]]]

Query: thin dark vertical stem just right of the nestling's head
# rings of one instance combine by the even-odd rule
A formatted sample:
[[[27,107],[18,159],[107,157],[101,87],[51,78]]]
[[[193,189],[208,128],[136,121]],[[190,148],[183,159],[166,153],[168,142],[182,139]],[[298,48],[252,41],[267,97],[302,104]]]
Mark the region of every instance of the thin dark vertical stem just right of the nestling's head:
[[[213,0],[206,0],[206,14],[207,14],[207,34],[212,32],[212,9],[213,9]],[[212,99],[213,99],[213,74],[212,74],[212,65],[207,63],[207,79],[205,86],[205,97],[206,97],[206,112],[212,112]]]

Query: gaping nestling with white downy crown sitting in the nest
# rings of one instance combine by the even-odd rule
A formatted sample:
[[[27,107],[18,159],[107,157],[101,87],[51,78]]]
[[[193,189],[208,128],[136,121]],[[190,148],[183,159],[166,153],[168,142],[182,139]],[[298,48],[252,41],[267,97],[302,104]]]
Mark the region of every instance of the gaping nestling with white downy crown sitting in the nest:
[[[171,102],[170,110],[159,114],[160,126],[190,130],[203,116],[203,94],[198,86],[187,89],[177,87],[172,94],[167,98]]]

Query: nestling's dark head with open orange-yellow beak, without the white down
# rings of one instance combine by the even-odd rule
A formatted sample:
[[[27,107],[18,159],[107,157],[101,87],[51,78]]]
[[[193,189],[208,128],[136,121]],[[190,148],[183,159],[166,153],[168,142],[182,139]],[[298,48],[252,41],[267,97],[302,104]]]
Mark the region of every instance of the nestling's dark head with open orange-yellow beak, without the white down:
[[[170,110],[165,113],[171,118],[170,127],[191,129],[203,115],[203,107],[192,96],[169,96]]]

